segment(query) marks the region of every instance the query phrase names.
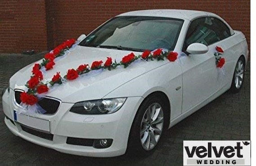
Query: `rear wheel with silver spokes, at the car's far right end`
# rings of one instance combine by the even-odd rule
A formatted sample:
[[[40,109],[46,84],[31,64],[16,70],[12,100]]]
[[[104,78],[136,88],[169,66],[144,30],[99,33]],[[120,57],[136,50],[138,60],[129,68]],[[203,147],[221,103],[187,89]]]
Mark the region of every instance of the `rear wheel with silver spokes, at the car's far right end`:
[[[243,80],[244,80],[244,68],[245,68],[245,60],[243,56],[240,56],[238,59],[234,74],[233,74],[233,79],[232,79],[232,84],[230,87],[230,92],[231,93],[238,93],[243,85]]]

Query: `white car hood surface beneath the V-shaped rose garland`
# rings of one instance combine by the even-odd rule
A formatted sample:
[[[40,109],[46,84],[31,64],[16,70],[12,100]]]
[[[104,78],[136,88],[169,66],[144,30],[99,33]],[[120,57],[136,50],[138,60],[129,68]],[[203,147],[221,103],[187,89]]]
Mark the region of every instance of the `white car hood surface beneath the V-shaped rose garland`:
[[[53,69],[48,71],[42,69],[44,76],[43,82],[50,81],[56,72],[61,72],[61,76],[63,77],[66,75],[68,69],[76,69],[80,64],[90,65],[96,60],[102,60],[104,63],[108,56],[112,57],[113,61],[116,59],[117,62],[119,62],[124,55],[129,53],[131,53],[131,51],[77,46],[71,52],[66,53],[65,56],[55,59],[56,64],[53,66]],[[140,54],[140,52],[134,53],[135,55]],[[35,63],[40,63],[41,61],[42,60],[39,60]],[[13,75],[10,80],[10,87],[12,89],[26,90],[24,85],[30,79],[31,70],[35,63],[22,68]],[[127,68],[118,66],[111,71],[103,69],[93,70],[79,76],[76,80],[67,81],[62,85],[55,84],[50,88],[49,92],[43,95],[58,98],[62,100],[62,102],[72,103],[104,98],[106,94],[109,94],[126,82],[167,63],[168,61],[157,62],[155,60],[146,62],[145,60],[137,60]]]

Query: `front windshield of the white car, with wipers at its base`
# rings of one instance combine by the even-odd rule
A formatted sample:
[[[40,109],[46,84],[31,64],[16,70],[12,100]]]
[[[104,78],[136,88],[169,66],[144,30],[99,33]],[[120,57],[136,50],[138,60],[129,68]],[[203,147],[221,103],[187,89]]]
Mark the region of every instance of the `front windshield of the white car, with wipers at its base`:
[[[79,45],[120,50],[173,50],[183,20],[167,17],[114,17]]]

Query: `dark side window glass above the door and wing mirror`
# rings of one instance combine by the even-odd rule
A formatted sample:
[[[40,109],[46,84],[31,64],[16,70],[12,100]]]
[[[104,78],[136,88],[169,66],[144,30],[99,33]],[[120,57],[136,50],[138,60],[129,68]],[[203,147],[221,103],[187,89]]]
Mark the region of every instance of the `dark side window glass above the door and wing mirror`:
[[[202,43],[208,46],[229,36],[230,30],[221,20],[214,17],[201,17],[190,23],[183,51],[192,43]]]

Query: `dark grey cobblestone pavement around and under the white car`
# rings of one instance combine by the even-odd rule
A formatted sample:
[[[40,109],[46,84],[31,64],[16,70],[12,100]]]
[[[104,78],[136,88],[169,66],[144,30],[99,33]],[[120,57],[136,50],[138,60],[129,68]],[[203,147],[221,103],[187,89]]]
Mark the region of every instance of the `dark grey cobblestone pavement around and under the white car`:
[[[0,54],[0,90],[22,67],[44,54]],[[2,91],[2,90],[1,90]],[[44,148],[14,136],[4,124],[0,95],[0,165],[152,165],[182,166],[183,140],[250,140],[250,64],[239,94],[226,92],[163,136],[158,149],[144,158],[81,157]]]

